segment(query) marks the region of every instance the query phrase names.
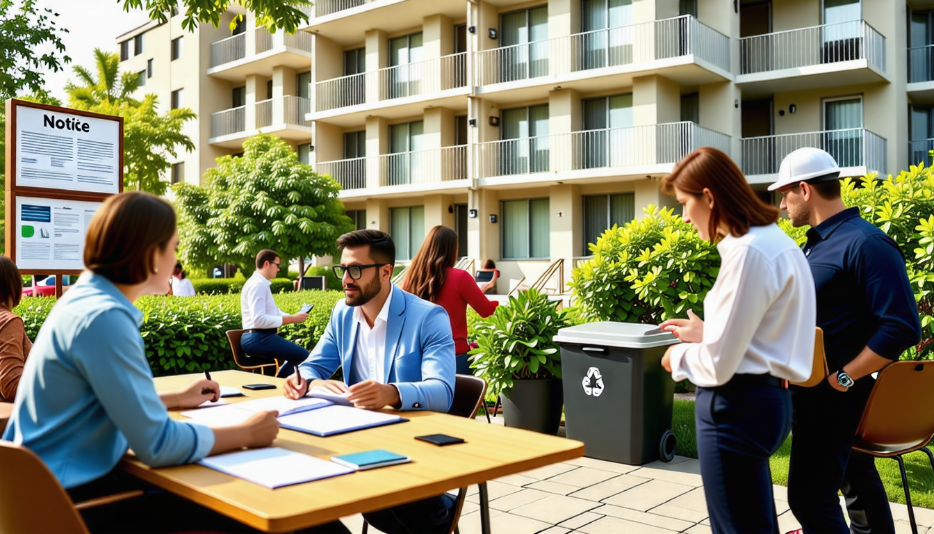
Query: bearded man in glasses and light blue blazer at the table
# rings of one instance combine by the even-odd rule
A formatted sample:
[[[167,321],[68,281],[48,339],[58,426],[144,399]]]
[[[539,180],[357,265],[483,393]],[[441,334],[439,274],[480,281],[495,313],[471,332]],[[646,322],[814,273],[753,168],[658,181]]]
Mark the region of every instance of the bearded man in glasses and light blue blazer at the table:
[[[390,281],[395,244],[385,232],[357,230],[337,239],[344,284],[331,321],[298,367],[301,380],[285,382],[285,395],[309,387],[347,392],[358,408],[447,411],[454,398],[454,338],[446,311],[405,293]],[[328,380],[338,367],[344,382]],[[453,499],[427,498],[363,517],[386,534],[432,534],[450,527]]]

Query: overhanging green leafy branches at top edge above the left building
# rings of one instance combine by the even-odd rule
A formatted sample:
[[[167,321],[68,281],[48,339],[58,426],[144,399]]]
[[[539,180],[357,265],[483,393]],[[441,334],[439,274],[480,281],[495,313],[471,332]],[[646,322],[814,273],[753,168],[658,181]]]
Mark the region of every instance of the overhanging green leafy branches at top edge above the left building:
[[[178,7],[178,0],[117,0],[124,11],[147,9],[149,19],[166,22],[172,9]],[[300,7],[310,7],[310,0],[182,0],[181,10],[185,18],[181,22],[184,30],[194,31],[199,22],[209,22],[214,27],[220,25],[220,18],[232,5],[246,7],[256,17],[259,25],[270,30],[285,30],[294,34],[302,22],[308,22],[308,16]]]

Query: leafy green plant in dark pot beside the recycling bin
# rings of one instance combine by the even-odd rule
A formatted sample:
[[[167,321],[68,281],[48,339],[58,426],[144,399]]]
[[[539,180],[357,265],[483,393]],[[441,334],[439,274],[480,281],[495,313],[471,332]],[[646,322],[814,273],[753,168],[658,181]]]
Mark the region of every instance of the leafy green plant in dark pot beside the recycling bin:
[[[558,305],[530,289],[510,296],[509,304],[476,326],[471,367],[501,397],[506,426],[558,433],[564,395],[561,358],[552,339],[559,328],[572,325]]]

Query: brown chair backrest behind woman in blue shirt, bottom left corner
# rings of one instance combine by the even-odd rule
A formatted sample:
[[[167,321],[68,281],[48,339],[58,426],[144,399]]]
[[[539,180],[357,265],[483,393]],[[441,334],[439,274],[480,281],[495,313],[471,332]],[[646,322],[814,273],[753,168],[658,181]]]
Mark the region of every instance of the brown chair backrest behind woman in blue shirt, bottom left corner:
[[[87,534],[62,484],[32,451],[0,441],[0,532]]]

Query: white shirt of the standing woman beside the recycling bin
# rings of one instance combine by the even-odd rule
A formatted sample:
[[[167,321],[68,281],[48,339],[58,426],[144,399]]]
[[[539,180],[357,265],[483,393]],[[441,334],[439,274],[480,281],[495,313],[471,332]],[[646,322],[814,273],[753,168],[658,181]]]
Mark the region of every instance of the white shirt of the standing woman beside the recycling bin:
[[[672,378],[714,387],[738,373],[810,377],[816,301],[798,245],[769,224],[729,235],[716,248],[720,274],[703,301],[703,339],[672,349]]]

